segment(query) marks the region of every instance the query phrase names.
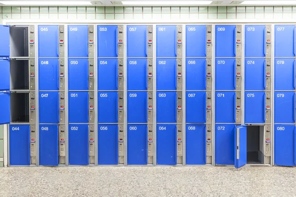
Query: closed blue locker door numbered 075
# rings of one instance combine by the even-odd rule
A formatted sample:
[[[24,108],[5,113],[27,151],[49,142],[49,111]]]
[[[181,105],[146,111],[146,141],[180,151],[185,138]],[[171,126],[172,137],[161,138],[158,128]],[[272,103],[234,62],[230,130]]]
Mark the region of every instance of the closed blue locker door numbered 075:
[[[265,123],[265,92],[245,92],[245,123]]]

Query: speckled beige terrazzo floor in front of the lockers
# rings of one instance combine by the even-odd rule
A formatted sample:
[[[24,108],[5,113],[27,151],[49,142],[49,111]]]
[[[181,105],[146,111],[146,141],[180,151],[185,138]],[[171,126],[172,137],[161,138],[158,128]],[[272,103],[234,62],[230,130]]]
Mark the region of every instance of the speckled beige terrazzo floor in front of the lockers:
[[[5,167],[0,197],[296,197],[296,167]]]

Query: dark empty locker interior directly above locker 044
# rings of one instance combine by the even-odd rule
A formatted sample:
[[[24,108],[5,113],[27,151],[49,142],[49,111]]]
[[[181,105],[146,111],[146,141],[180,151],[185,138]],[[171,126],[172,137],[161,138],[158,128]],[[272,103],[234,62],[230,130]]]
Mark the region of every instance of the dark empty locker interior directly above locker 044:
[[[29,123],[30,99],[29,93],[10,94],[10,116],[12,123]]]

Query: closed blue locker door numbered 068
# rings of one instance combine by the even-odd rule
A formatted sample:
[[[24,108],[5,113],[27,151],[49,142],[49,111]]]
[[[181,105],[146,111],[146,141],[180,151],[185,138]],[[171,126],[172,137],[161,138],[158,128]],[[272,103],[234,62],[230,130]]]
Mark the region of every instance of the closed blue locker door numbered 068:
[[[186,125],[186,164],[204,165],[206,155],[206,125]]]

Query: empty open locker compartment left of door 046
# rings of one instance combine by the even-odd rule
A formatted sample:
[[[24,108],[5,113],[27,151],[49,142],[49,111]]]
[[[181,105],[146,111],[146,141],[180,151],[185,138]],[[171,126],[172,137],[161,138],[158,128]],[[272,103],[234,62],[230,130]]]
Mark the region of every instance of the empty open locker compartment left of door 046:
[[[35,80],[35,71],[31,74],[29,70],[29,60],[10,60],[11,90],[29,90],[30,76]]]

